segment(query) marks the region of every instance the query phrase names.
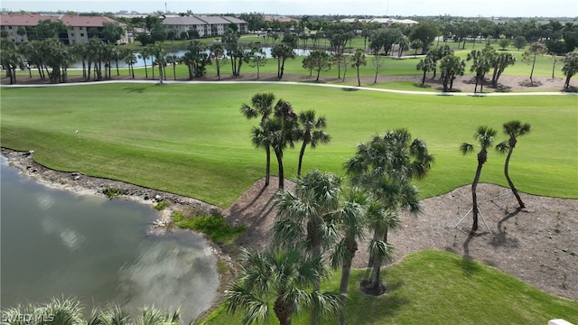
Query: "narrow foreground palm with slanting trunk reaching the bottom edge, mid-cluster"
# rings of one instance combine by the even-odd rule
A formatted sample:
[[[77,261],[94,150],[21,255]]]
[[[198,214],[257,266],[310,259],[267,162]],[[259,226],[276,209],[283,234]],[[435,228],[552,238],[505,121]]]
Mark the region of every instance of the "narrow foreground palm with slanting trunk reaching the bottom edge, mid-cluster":
[[[365,209],[368,203],[364,191],[350,190],[340,212],[337,214],[337,223],[340,228],[341,240],[333,247],[331,265],[341,266],[340,281],[340,314],[339,324],[345,324],[345,305],[350,284],[351,265],[355,252],[358,250],[358,240],[365,235]]]

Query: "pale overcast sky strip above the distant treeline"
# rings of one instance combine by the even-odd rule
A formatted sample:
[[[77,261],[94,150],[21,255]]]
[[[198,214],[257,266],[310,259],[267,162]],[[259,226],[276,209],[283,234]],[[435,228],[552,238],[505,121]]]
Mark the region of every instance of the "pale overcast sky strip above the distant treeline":
[[[166,5],[166,6],[165,6]],[[165,11],[193,14],[368,14],[471,17],[576,17],[578,0],[0,0],[11,11],[139,13]]]

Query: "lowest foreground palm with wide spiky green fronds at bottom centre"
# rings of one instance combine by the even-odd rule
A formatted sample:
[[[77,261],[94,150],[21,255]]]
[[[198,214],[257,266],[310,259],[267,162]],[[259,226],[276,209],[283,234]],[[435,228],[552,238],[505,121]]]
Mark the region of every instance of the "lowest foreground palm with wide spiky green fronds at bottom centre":
[[[329,275],[320,256],[274,246],[264,252],[246,252],[244,262],[239,280],[225,296],[227,311],[246,311],[243,324],[268,322],[273,311],[279,324],[289,325],[307,306],[317,306],[320,318],[338,311],[338,294],[307,292],[312,283]]]

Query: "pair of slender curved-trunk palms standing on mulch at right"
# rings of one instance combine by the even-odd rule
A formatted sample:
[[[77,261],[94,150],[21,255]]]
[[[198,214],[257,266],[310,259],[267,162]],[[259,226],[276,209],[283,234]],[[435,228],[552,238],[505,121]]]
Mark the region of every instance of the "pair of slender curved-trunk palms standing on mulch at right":
[[[520,121],[512,120],[504,123],[504,125],[502,125],[502,129],[504,134],[508,135],[508,140],[502,141],[496,145],[496,150],[498,153],[508,153],[506,162],[504,163],[504,175],[506,176],[506,180],[508,181],[508,185],[512,191],[512,194],[514,194],[516,197],[517,203],[519,205],[518,209],[524,209],[526,206],[520,198],[516,186],[514,186],[514,182],[509,177],[508,168],[510,158],[517,144],[517,137],[527,135],[532,129],[532,126],[527,123],[521,123]],[[498,132],[495,129],[487,125],[480,125],[473,135],[474,139],[476,139],[480,144],[480,152],[478,153],[478,167],[476,169],[476,175],[473,179],[473,182],[471,183],[471,200],[473,204],[471,209],[473,212],[473,224],[471,226],[471,233],[474,233],[478,230],[478,216],[480,214],[480,209],[478,208],[476,188],[478,186],[478,182],[480,181],[481,168],[483,167],[484,163],[488,161],[488,149],[494,144],[497,134]],[[473,144],[463,143],[460,145],[460,152],[464,155],[472,153],[473,148]]]

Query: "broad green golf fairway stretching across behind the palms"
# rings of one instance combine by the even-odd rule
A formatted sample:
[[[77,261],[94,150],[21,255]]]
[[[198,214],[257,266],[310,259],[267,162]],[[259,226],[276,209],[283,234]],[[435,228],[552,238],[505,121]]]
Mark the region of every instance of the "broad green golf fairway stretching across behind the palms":
[[[357,144],[406,127],[435,157],[431,174],[417,184],[422,197],[431,197],[473,180],[476,155],[463,157],[458,146],[474,143],[478,125],[498,129],[502,141],[501,125],[518,119],[533,130],[518,140],[510,163],[517,189],[578,198],[575,96],[412,96],[243,83],[2,88],[0,141],[34,150],[38,163],[56,170],[129,181],[226,208],[265,175],[265,152],[250,142],[257,122],[239,112],[257,92],[273,92],[297,112],[314,109],[327,117],[331,143],[307,149],[304,172],[319,168],[343,175],[342,165]],[[287,178],[296,174],[297,157],[298,148],[287,149]],[[507,186],[504,159],[489,152],[480,181]],[[272,172],[276,169],[273,159]]]

